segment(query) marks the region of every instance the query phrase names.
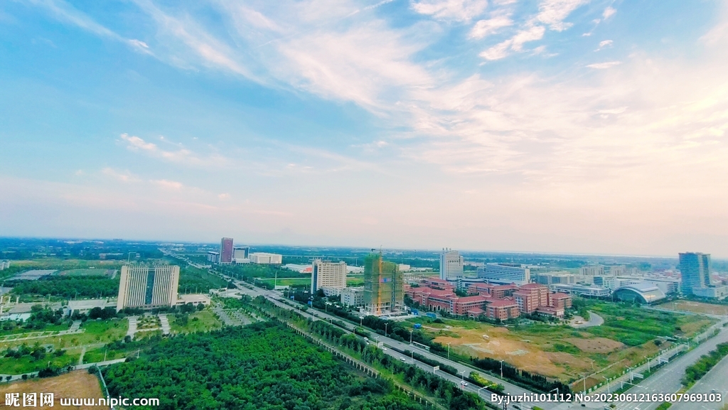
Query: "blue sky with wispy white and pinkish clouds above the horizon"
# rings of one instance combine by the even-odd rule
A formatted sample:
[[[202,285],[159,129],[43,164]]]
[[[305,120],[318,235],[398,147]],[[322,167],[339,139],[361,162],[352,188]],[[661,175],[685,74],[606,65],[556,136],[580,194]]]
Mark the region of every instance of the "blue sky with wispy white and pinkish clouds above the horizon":
[[[0,235],[728,256],[727,10],[4,1]]]

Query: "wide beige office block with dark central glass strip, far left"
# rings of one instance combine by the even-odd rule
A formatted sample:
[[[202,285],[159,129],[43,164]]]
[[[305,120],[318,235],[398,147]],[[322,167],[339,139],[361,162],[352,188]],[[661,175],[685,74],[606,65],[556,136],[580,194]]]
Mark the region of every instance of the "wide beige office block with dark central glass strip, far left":
[[[179,280],[180,267],[176,265],[124,265],[116,310],[174,306]]]

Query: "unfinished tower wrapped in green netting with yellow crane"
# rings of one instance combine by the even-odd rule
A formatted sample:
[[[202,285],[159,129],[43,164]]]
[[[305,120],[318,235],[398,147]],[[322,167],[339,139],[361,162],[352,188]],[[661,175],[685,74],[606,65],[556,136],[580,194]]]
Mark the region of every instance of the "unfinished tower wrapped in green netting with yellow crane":
[[[364,259],[364,311],[381,316],[398,313],[404,307],[404,278],[397,264],[370,253]]]

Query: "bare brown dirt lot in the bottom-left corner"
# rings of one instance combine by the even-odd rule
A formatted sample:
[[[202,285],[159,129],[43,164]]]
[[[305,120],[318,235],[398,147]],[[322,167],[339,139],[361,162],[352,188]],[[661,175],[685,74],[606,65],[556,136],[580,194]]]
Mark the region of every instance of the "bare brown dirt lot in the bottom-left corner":
[[[5,393],[54,393],[53,407],[60,407],[60,398],[103,398],[98,378],[88,371],[77,370],[48,379],[32,379],[0,385],[0,400]],[[64,406],[64,409],[108,409],[105,406]]]

